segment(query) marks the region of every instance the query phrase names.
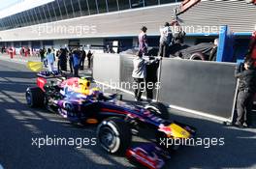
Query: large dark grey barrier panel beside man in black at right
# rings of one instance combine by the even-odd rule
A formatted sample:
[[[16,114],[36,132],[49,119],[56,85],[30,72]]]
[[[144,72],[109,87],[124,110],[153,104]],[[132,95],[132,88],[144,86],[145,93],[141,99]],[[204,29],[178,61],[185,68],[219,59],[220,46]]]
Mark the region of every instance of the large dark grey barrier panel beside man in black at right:
[[[235,67],[231,63],[164,59],[159,101],[231,120],[237,91]]]

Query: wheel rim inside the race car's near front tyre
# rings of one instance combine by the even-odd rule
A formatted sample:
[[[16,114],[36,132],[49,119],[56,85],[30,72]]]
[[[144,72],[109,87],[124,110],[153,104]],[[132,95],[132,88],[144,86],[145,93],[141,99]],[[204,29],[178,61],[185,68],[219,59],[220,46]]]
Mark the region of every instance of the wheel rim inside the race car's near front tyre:
[[[99,141],[102,146],[108,150],[112,150],[116,143],[115,134],[110,127],[102,127],[99,131]]]

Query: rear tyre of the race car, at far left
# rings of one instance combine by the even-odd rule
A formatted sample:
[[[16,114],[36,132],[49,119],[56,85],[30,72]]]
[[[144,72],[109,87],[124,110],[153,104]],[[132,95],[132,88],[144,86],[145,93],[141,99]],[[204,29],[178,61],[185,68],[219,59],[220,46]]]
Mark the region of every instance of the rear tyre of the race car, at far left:
[[[40,107],[44,105],[45,94],[39,87],[27,88],[26,101],[30,107]]]

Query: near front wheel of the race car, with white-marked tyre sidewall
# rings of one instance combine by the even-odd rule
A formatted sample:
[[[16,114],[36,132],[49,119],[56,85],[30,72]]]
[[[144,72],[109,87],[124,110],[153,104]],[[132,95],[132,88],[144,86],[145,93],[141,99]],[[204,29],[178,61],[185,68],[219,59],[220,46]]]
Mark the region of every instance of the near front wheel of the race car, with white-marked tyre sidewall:
[[[97,128],[98,142],[110,154],[124,154],[132,141],[129,125],[121,118],[104,120]]]

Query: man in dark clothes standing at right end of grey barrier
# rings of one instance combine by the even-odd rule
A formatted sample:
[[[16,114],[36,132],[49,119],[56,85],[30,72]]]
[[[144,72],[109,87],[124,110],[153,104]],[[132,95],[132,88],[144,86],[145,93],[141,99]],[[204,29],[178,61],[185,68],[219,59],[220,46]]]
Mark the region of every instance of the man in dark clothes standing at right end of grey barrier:
[[[235,77],[239,81],[239,95],[237,99],[238,118],[235,125],[237,127],[250,126],[250,111],[252,108],[253,97],[256,92],[256,70],[251,59],[245,60],[235,71]]]

